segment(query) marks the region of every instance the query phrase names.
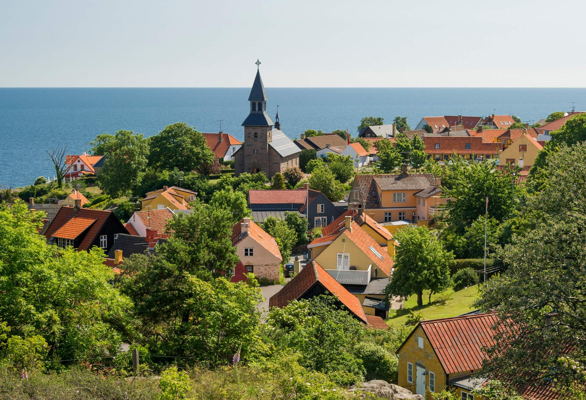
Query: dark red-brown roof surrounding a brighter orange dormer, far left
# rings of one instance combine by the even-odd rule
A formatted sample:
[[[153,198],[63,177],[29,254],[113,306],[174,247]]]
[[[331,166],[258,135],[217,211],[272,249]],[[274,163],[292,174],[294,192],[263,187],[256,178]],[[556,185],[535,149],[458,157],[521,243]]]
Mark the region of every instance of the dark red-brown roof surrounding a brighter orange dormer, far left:
[[[55,237],[54,233],[56,233],[59,228],[71,220],[71,218],[83,217],[91,220],[97,220],[91,224],[87,234],[79,244],[79,247],[77,247],[78,250],[87,250],[90,248],[90,245],[94,242],[94,240],[96,240],[96,235],[100,232],[101,228],[104,226],[105,222],[110,216],[116,218],[111,211],[90,210],[90,208],[79,208],[76,211],[74,207],[63,206],[60,208],[59,212],[53,219],[53,222],[49,225],[49,228],[47,228],[45,231],[45,237],[47,238],[47,241],[49,241],[50,238]],[[116,220],[118,220],[118,218],[116,218]],[[124,225],[120,225],[120,233],[128,233],[126,228],[124,228]]]

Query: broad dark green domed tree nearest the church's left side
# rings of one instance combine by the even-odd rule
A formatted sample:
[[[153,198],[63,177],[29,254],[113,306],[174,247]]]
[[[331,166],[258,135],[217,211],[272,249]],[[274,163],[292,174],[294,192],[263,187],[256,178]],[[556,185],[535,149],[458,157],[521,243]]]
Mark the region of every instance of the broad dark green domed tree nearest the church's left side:
[[[206,139],[185,122],[168,125],[148,141],[151,147],[149,166],[190,172],[202,171],[214,162],[214,153],[207,146]]]

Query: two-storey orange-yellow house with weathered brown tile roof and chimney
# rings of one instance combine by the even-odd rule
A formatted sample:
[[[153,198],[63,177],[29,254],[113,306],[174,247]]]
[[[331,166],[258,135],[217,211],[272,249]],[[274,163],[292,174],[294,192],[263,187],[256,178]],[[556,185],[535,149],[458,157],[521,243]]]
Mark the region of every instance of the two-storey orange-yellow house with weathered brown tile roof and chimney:
[[[403,165],[400,174],[356,175],[348,203],[359,203],[364,214],[378,223],[417,221],[417,193],[435,187],[431,173],[407,173]]]

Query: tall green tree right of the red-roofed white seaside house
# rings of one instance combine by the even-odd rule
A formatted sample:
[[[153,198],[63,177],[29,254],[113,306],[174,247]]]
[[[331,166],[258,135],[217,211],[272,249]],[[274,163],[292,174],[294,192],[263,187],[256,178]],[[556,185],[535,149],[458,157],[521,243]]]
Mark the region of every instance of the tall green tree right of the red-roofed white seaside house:
[[[90,145],[94,154],[97,149],[105,150],[104,167],[96,179],[105,193],[118,197],[138,186],[149,154],[144,136],[132,131],[118,131],[114,135],[98,135]]]

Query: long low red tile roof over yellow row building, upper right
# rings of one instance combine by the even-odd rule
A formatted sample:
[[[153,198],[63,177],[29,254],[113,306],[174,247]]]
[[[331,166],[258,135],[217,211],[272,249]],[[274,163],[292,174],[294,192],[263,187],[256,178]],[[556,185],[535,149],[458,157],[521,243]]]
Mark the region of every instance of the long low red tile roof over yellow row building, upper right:
[[[425,153],[428,154],[499,154],[502,149],[502,143],[485,143],[481,136],[425,136]],[[439,143],[440,148],[435,148],[435,143]],[[470,148],[466,149],[466,144]]]

